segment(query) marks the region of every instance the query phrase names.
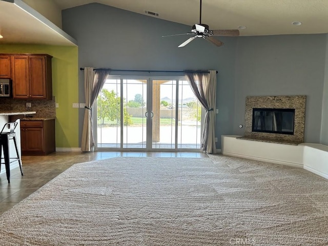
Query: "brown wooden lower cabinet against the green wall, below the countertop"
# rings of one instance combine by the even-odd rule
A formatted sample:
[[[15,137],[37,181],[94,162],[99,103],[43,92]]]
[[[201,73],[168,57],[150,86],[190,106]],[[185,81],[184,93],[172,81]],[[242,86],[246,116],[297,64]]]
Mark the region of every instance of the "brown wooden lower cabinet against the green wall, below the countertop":
[[[55,152],[55,120],[21,120],[22,155],[47,155]]]

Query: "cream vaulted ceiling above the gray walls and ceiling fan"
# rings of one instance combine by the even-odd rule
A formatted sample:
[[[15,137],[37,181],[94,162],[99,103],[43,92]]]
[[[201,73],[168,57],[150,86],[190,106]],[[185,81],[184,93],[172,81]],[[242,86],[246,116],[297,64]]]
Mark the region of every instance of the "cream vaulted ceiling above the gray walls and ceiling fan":
[[[54,0],[61,9],[92,2],[186,25],[199,23],[200,0]],[[327,0],[202,0],[202,23],[211,29],[238,29],[240,35],[328,32]],[[301,22],[302,25],[292,25]]]

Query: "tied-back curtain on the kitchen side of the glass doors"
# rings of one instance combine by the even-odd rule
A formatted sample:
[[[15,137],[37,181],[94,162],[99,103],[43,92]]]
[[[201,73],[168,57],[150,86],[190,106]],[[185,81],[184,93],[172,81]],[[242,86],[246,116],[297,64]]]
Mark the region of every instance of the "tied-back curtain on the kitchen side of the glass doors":
[[[92,106],[95,103],[98,94],[103,88],[110,70],[94,70],[94,68],[84,69],[84,91],[85,91],[85,114],[81,139],[81,150],[84,152],[92,151],[95,142],[93,135]]]

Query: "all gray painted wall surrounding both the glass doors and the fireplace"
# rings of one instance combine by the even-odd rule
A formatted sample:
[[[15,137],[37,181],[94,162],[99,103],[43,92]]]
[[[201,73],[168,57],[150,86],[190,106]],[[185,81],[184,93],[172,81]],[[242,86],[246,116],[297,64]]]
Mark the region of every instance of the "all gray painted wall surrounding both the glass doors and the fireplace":
[[[247,95],[306,95],[305,141],[320,142],[321,119],[328,122],[322,107],[324,85],[328,94],[325,34],[220,37],[225,44],[219,48],[197,38],[177,48],[186,36],[161,36],[189,32],[189,26],[101,4],[66,9],[62,16],[64,31],[78,41],[79,67],[218,70],[217,148],[221,135],[243,135],[239,125],[244,124]],[[83,78],[80,72],[80,103]],[[83,117],[80,110],[80,135]]]

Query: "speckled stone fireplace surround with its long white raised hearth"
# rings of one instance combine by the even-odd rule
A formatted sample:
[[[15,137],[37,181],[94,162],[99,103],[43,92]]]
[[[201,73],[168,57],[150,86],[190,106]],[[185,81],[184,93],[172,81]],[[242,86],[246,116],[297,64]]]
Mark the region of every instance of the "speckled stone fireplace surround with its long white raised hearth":
[[[294,135],[252,132],[253,108],[295,109]],[[221,153],[303,168],[328,179],[328,146],[303,142],[304,116],[305,96],[248,96],[245,135],[222,135]]]

